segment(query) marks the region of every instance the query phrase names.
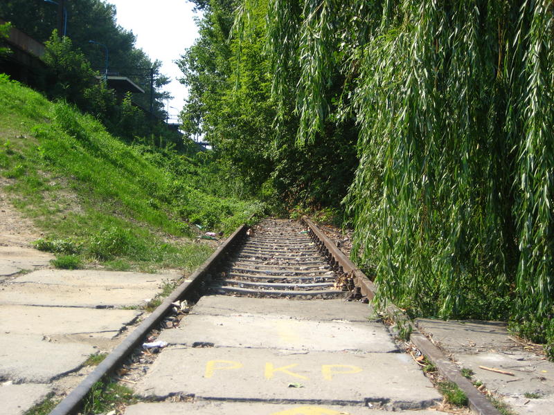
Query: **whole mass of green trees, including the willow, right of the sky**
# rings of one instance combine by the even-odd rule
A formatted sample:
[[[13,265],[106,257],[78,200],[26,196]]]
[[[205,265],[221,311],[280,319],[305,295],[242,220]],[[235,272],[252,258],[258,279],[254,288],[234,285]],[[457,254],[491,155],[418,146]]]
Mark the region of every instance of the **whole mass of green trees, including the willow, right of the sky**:
[[[287,201],[337,203],[350,185],[343,208],[378,301],[510,317],[553,344],[553,3],[218,5],[198,3],[202,35],[184,55],[185,82],[199,82],[190,126]]]

